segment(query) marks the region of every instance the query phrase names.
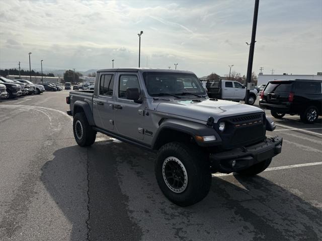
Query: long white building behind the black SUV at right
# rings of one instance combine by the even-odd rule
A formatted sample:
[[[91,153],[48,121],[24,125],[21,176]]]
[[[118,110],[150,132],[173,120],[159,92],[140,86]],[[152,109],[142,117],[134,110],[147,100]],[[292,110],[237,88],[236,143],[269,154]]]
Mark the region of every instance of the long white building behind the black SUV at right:
[[[310,79],[322,80],[322,75],[314,74],[259,74],[257,76],[257,85],[267,84],[270,80],[294,80],[294,79]]]

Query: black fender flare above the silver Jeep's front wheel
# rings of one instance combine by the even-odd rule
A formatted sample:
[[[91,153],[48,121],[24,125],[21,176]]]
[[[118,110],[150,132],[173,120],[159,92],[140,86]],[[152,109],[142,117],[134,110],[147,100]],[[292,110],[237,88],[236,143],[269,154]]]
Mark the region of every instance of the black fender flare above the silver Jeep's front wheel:
[[[209,142],[200,142],[195,139],[196,143],[202,147],[217,146],[221,144],[221,138],[216,132],[216,130],[214,130],[211,127],[207,127],[205,124],[186,121],[183,119],[165,119],[165,121],[163,121],[160,124],[159,128],[157,129],[153,137],[153,140],[151,143],[152,149],[155,149],[160,133],[162,133],[164,130],[169,130],[169,129],[188,134],[194,139],[195,139],[195,136],[215,136],[216,137],[215,141],[209,141]]]

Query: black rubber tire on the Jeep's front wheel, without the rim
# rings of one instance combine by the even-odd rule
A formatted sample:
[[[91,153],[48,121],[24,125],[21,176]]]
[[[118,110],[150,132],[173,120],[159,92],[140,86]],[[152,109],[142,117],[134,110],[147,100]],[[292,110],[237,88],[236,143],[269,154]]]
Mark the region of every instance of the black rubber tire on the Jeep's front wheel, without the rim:
[[[164,177],[164,162],[176,158],[183,164],[187,173],[186,188],[178,193],[171,190]],[[207,196],[211,185],[211,172],[207,155],[194,146],[171,142],[157,152],[155,177],[164,195],[179,206],[190,206]],[[168,182],[169,184],[169,182]]]

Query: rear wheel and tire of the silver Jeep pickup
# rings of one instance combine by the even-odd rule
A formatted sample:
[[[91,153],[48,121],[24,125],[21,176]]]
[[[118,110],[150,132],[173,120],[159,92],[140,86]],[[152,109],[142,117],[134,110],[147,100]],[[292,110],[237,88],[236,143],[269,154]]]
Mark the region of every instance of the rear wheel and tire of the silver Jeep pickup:
[[[88,147],[94,144],[96,131],[90,126],[84,112],[74,115],[72,129],[77,144],[81,147]]]

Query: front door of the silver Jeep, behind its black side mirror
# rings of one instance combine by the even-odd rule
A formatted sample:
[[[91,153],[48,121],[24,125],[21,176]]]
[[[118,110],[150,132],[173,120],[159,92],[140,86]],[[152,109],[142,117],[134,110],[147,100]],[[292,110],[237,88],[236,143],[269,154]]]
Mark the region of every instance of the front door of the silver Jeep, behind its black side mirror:
[[[116,131],[119,135],[142,140],[144,102],[135,103],[126,96],[127,88],[138,88],[141,93],[139,76],[137,73],[119,73],[117,78],[118,92],[114,103]]]

